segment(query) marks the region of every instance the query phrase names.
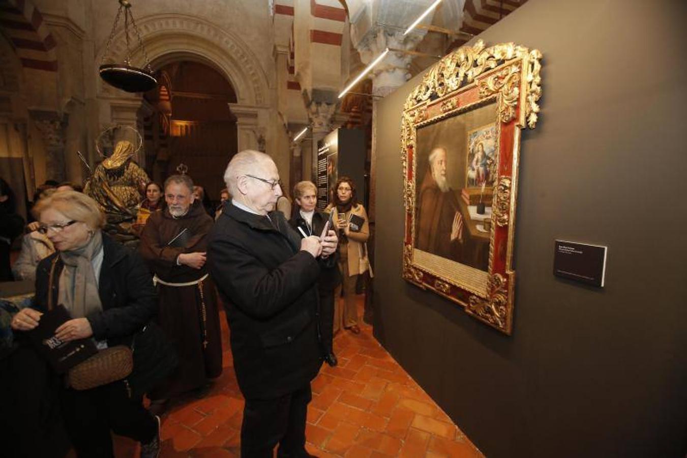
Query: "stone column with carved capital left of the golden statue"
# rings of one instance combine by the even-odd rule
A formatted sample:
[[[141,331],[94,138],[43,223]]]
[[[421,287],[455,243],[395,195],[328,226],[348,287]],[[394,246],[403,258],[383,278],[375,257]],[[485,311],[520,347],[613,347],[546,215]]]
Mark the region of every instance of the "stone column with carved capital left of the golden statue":
[[[45,175],[48,179],[63,182],[65,171],[65,128],[66,117],[54,111],[29,111],[34,125],[41,132],[45,143]]]

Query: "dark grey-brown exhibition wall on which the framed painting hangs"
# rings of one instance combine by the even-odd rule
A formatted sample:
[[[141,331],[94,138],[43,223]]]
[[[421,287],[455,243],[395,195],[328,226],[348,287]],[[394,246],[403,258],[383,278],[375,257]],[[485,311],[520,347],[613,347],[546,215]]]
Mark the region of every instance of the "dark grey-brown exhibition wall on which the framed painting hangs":
[[[506,336],[401,278],[401,112],[379,103],[374,333],[490,458],[684,457],[687,3],[530,0],[480,35],[543,54]],[[554,241],[608,247],[605,287]]]

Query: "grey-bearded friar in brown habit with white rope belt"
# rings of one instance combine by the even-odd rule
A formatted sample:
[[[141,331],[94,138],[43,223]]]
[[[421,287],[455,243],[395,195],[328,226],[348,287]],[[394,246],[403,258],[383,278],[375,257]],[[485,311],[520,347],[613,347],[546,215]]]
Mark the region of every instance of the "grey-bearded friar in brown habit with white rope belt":
[[[213,220],[193,199],[188,175],[172,175],[165,184],[167,208],[150,215],[139,252],[155,275],[159,323],[174,342],[179,367],[149,393],[153,410],[186,391],[205,393],[209,379],[222,373],[222,345],[214,285],[205,266],[207,234]]]

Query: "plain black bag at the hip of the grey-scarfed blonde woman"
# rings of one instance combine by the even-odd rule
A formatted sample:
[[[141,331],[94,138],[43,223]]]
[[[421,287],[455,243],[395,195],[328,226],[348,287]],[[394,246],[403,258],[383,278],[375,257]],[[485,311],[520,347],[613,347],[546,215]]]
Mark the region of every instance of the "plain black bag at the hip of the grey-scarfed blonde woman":
[[[142,396],[160,384],[179,364],[177,352],[164,331],[151,321],[133,337],[133,371],[126,378],[131,397]]]

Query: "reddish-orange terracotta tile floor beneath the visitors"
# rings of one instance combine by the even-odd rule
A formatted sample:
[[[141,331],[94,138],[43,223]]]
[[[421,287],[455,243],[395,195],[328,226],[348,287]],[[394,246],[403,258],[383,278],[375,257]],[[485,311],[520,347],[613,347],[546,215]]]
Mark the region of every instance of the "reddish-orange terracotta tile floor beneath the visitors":
[[[360,304],[362,316],[362,303]],[[161,457],[239,457],[243,397],[221,315],[224,368],[202,400],[177,400],[162,419]],[[313,381],[307,449],[318,457],[483,457],[451,419],[361,326],[335,337],[337,367]],[[117,457],[138,457],[135,442],[115,438]]]

